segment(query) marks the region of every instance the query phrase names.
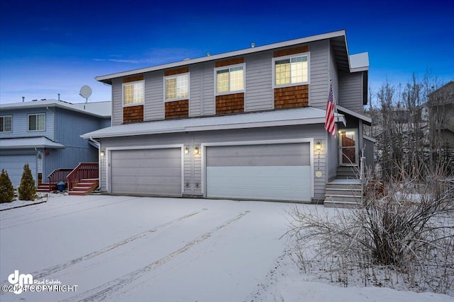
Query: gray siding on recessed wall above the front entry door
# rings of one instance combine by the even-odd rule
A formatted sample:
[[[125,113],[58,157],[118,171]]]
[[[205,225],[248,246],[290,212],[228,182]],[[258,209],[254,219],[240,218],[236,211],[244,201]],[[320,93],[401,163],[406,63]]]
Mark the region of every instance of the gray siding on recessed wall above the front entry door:
[[[339,105],[362,113],[362,73],[340,74]]]

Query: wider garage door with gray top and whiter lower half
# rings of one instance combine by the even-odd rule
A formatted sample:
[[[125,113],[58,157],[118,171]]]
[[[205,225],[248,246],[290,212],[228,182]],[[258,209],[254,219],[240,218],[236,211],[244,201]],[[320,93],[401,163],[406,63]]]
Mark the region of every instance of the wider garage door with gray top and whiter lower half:
[[[310,144],[206,147],[206,196],[311,200]]]

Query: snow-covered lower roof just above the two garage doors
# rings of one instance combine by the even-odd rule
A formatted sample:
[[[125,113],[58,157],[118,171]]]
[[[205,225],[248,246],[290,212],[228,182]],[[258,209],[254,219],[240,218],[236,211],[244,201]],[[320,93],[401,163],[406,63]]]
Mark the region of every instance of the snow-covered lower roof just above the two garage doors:
[[[181,120],[160,120],[155,122],[116,125],[82,134],[81,137],[84,139],[126,137],[143,134],[273,127],[295,124],[320,124],[325,122],[325,115],[325,110],[305,107],[292,110],[272,110],[236,115],[194,117]],[[340,118],[340,122],[345,121],[343,115],[338,115],[338,117]]]

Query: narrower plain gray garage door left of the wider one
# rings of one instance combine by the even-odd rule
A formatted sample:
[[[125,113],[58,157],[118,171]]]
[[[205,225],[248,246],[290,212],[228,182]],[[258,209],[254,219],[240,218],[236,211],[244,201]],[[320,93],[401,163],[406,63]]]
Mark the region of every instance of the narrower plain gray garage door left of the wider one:
[[[182,196],[180,148],[111,151],[111,192]]]

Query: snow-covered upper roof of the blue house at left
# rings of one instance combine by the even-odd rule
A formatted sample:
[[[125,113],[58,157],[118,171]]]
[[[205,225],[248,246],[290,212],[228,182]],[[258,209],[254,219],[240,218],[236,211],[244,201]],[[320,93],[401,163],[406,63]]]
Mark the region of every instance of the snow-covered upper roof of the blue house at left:
[[[91,102],[91,103],[68,103],[63,100],[33,100],[31,102],[6,103],[0,104],[1,110],[11,110],[19,108],[45,108],[58,107],[65,108],[76,112],[82,112],[88,115],[96,115],[99,117],[111,116],[111,101]]]

